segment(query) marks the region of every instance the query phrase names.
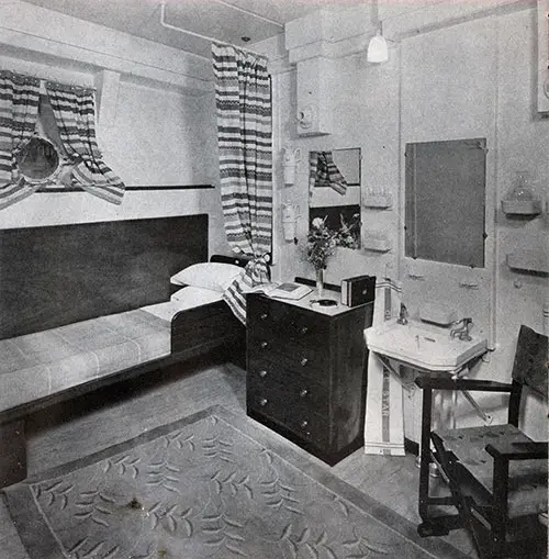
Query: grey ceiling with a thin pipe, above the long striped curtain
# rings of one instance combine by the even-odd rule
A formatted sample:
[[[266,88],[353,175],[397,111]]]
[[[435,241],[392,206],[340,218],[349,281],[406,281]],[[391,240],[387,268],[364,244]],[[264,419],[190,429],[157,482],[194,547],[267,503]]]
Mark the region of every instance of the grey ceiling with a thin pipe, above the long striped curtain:
[[[210,57],[211,42],[161,25],[163,0],[25,0],[181,51]],[[165,23],[237,46],[283,32],[284,23],[323,7],[363,0],[165,0]],[[242,37],[249,37],[249,42]]]

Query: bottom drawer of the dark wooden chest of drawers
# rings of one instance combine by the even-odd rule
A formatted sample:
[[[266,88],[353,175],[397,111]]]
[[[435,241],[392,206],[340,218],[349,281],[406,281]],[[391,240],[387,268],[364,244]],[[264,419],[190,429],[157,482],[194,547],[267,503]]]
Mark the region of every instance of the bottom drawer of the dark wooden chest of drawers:
[[[248,411],[266,415],[288,431],[304,440],[324,447],[329,440],[329,424],[327,416],[313,413],[306,407],[293,405],[284,400],[280,392],[264,391],[261,388],[246,391]]]

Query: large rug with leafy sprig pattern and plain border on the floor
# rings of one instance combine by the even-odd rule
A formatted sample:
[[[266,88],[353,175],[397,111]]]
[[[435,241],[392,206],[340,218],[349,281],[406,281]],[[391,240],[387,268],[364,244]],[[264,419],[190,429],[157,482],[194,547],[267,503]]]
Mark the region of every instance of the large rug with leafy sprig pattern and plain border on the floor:
[[[219,406],[5,495],[31,559],[467,557]]]

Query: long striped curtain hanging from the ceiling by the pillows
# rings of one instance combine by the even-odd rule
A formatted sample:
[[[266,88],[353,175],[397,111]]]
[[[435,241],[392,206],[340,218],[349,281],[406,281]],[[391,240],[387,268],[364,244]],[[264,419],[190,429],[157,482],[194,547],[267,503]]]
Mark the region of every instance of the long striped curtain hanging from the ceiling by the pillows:
[[[269,281],[272,241],[272,109],[267,60],[212,45],[217,142],[227,242],[251,258],[224,293],[246,323],[245,292]]]

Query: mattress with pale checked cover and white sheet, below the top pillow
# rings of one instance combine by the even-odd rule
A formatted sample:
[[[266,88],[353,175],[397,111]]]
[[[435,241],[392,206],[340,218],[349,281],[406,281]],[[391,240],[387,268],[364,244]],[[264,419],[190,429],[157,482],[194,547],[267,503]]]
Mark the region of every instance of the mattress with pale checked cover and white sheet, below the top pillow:
[[[165,303],[0,340],[0,413],[168,357],[171,317],[221,299],[198,289],[183,288]]]

